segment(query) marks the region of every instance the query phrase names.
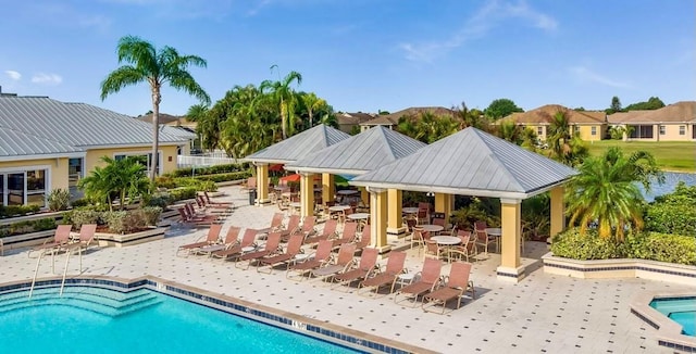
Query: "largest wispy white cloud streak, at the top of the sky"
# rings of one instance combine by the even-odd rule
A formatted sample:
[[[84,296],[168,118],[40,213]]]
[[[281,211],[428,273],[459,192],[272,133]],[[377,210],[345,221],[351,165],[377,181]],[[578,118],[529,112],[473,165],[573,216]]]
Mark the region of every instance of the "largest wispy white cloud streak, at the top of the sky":
[[[492,28],[510,20],[522,20],[545,31],[552,31],[558,27],[556,20],[530,8],[523,0],[517,3],[490,0],[469,17],[464,22],[464,26],[452,34],[450,38],[421,43],[406,42],[399,45],[399,48],[406,52],[406,59],[410,61],[432,62],[435,58],[463,46],[469,40],[485,36]]]

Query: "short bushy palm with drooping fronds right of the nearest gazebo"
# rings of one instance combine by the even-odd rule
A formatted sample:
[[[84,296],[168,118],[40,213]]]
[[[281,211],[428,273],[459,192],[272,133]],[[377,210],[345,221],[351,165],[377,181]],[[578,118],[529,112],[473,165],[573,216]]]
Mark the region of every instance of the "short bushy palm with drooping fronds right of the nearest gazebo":
[[[626,157],[619,148],[611,148],[601,156],[586,159],[579,169],[567,187],[570,225],[577,222],[584,233],[589,224],[597,223],[599,236],[610,237],[613,230],[618,241],[627,227],[643,227],[644,199],[636,182],[649,189],[652,178],[663,179],[650,153],[637,151]]]

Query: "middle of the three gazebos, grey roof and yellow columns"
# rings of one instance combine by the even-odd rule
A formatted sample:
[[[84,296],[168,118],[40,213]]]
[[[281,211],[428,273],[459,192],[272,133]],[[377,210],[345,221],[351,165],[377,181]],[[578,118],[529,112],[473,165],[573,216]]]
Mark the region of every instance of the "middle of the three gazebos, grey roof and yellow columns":
[[[300,184],[300,201],[301,214],[308,216],[313,213],[314,201],[310,185],[313,174],[322,174],[324,176],[328,174],[332,177],[335,175],[360,176],[380,166],[403,159],[424,147],[426,147],[424,142],[400,132],[385,127],[375,127],[312,153],[304,159],[289,163],[285,165],[285,169],[299,173],[302,176],[302,180],[307,180],[307,182]],[[333,186],[333,179],[331,185]],[[388,193],[391,202],[388,210],[388,230],[390,233],[398,235],[403,231],[401,191],[391,189]],[[374,204],[372,199],[370,200],[370,205],[377,206],[370,208],[372,218],[375,218],[376,214],[384,214],[384,217],[386,217],[386,206]],[[376,238],[376,248],[382,252],[388,251],[386,231]]]

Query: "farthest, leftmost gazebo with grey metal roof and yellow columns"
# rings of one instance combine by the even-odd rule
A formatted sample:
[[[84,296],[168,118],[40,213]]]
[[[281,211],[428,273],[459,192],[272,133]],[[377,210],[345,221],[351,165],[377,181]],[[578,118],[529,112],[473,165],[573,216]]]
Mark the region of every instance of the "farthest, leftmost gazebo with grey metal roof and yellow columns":
[[[350,138],[349,135],[327,125],[320,124],[246,156],[244,160],[253,163],[257,167],[257,205],[263,205],[270,202],[270,164],[294,163],[313,152],[348,138]],[[330,182],[332,180],[330,177],[330,175],[322,177],[322,185],[324,186],[323,198],[330,198],[330,194],[326,193],[333,188],[333,182]],[[331,195],[333,197],[333,194]]]

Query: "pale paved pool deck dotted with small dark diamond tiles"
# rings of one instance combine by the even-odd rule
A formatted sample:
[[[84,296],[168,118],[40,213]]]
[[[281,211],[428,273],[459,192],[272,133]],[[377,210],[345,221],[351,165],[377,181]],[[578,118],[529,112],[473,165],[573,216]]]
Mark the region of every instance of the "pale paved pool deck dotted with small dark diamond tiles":
[[[238,187],[223,188],[238,206],[222,233],[235,225],[268,227],[274,206],[252,207]],[[498,254],[474,264],[471,279],[476,299],[446,315],[424,313],[395,304],[393,295],[370,299],[332,290],[322,281],[296,282],[285,271],[241,270],[232,262],[206,256],[175,256],[177,246],[207,232],[174,226],[163,240],[126,248],[92,249],[83,257],[84,275],[137,278],[150,275],[206,291],[243,299],[442,353],[505,351],[520,353],[671,353],[656,341],[657,330],[630,312],[638,294],[656,291],[694,291],[692,287],[645,279],[577,279],[544,274],[542,242],[527,242],[523,263],[527,276],[517,285],[496,277]],[[57,271],[64,256],[57,258]],[[383,263],[385,261],[381,261]],[[422,255],[409,251],[407,268],[418,271]],[[32,279],[36,258],[26,249],[0,256],[0,283]],[[449,273],[446,266],[443,274]],[[78,275],[71,262],[69,275]],[[44,262],[39,277],[53,277]]]

